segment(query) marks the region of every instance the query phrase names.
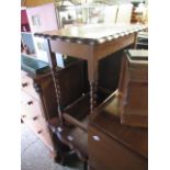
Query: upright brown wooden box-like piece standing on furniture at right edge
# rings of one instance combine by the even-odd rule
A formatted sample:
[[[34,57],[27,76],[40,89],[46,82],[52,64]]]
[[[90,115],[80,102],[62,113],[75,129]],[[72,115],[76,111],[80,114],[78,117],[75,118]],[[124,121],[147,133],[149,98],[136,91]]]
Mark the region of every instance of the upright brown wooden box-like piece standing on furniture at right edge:
[[[122,124],[148,126],[148,52],[124,53],[118,84]]]

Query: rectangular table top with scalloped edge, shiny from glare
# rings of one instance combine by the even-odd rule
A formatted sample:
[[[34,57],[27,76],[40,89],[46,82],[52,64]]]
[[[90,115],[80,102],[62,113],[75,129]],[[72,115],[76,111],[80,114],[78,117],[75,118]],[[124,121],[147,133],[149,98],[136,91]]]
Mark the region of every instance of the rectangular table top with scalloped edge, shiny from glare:
[[[120,36],[128,35],[146,29],[141,24],[89,24],[61,30],[35,33],[35,36],[50,37],[66,42],[103,43]]]

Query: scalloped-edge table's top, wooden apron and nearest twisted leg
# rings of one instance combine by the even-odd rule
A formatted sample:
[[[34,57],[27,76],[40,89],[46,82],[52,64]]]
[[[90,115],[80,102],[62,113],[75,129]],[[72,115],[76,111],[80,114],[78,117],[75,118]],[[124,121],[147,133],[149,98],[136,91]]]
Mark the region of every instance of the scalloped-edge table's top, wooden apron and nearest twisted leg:
[[[35,33],[35,36],[46,38],[48,56],[52,53],[60,53],[88,61],[91,112],[93,112],[97,105],[99,60],[129,45],[135,45],[137,32],[144,29],[145,25],[98,24]]]

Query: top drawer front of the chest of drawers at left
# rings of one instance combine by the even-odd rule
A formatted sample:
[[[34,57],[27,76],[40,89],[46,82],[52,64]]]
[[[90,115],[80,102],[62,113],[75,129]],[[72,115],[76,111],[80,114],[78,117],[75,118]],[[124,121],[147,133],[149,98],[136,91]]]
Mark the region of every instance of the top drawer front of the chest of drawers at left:
[[[36,93],[34,86],[33,86],[33,79],[30,77],[22,75],[21,76],[21,89],[22,91],[29,93],[30,95],[38,99],[38,94]]]

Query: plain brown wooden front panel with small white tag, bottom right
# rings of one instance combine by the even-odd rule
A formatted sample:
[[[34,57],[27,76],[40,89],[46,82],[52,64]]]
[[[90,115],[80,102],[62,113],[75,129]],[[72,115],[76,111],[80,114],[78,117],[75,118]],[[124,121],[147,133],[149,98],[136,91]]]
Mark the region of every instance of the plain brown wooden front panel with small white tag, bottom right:
[[[97,170],[147,170],[147,160],[118,141],[89,127],[89,161]]]

